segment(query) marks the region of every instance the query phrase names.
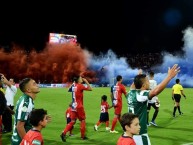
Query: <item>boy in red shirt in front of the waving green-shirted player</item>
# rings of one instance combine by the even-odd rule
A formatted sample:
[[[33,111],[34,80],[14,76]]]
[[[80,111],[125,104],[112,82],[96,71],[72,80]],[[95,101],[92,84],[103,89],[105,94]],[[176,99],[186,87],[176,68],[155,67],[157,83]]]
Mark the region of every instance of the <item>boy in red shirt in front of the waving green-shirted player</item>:
[[[139,134],[139,118],[133,113],[125,113],[120,119],[124,133],[119,137],[117,145],[136,145],[133,135]]]

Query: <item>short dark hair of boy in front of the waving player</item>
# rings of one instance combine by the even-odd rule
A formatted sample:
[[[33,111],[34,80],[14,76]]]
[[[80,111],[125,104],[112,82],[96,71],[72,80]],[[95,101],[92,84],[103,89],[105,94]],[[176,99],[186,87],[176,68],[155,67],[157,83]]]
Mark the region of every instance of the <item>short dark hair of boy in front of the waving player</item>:
[[[125,126],[130,126],[135,118],[138,118],[138,115],[133,113],[125,113],[121,116],[120,124],[124,131],[126,131]]]

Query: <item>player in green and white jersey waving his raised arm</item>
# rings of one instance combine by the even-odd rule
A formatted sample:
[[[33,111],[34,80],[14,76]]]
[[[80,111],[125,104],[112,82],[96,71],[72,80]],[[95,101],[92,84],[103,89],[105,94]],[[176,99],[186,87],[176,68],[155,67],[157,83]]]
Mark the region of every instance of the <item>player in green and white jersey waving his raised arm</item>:
[[[149,90],[149,80],[145,74],[139,74],[134,78],[129,93],[127,94],[128,111],[139,116],[140,133],[133,138],[136,145],[151,145],[147,134],[147,103],[149,99],[161,93],[172,78],[174,78],[180,68],[175,64],[171,69],[168,68],[168,75],[154,89]]]

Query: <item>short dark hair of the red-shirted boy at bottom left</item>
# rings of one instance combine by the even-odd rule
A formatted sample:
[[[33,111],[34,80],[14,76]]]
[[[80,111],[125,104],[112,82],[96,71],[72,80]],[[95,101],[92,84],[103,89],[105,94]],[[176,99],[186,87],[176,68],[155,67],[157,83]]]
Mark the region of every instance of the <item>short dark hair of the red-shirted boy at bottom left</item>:
[[[30,112],[29,120],[33,126],[38,126],[40,121],[44,120],[47,111],[44,109],[34,109]]]

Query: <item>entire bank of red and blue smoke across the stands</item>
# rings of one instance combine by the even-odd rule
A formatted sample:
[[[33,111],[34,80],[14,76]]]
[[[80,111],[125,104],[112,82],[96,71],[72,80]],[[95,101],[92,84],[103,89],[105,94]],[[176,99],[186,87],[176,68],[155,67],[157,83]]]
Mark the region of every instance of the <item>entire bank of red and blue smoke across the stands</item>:
[[[162,52],[163,63],[151,68],[158,83],[166,77],[168,67],[178,64],[181,71],[168,86],[175,84],[176,78],[185,87],[193,86],[193,29],[188,27],[183,34],[182,52],[175,55]],[[116,76],[122,75],[125,85],[130,85],[138,73],[126,58],[118,58],[112,50],[96,56],[73,43],[47,44],[43,51],[30,53],[17,45],[11,53],[1,49],[0,64],[0,72],[9,78],[32,77],[41,83],[66,83],[74,75],[82,75],[91,83],[113,84]]]

